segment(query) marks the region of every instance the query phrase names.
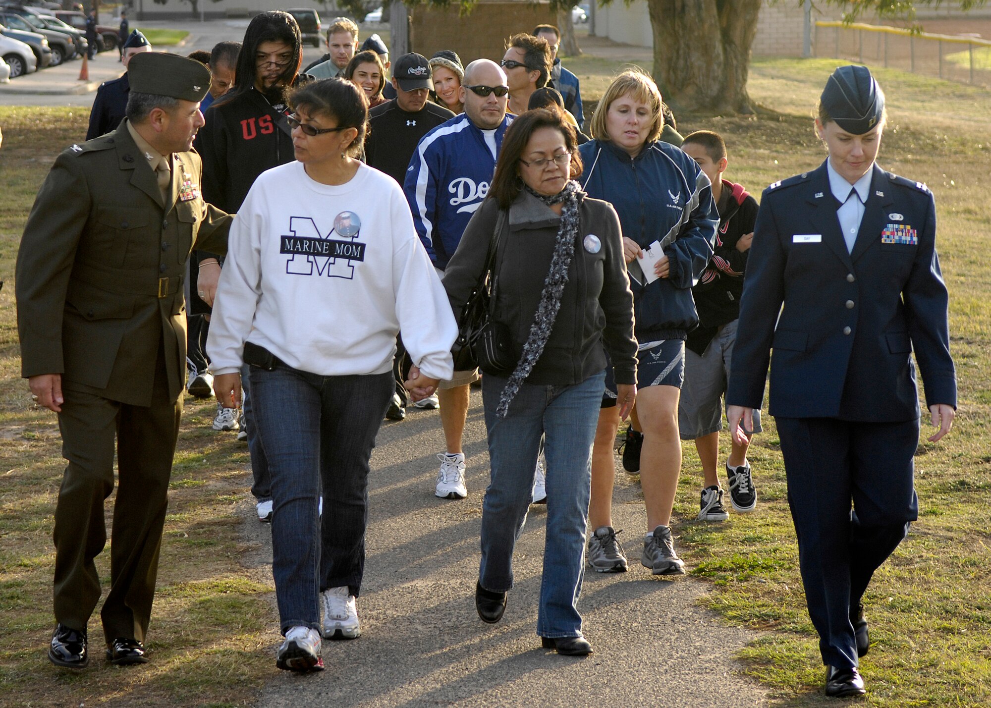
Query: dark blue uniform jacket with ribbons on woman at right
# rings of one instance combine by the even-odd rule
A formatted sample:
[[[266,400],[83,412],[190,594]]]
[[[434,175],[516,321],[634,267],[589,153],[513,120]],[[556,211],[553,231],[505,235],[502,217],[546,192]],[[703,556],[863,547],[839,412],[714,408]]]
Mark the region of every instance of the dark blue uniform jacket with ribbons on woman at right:
[[[875,165],[852,253],[836,206],[826,163],[764,190],[726,402],[759,408],[770,359],[772,415],[911,420],[915,349],[927,406],[955,407],[932,192]]]

